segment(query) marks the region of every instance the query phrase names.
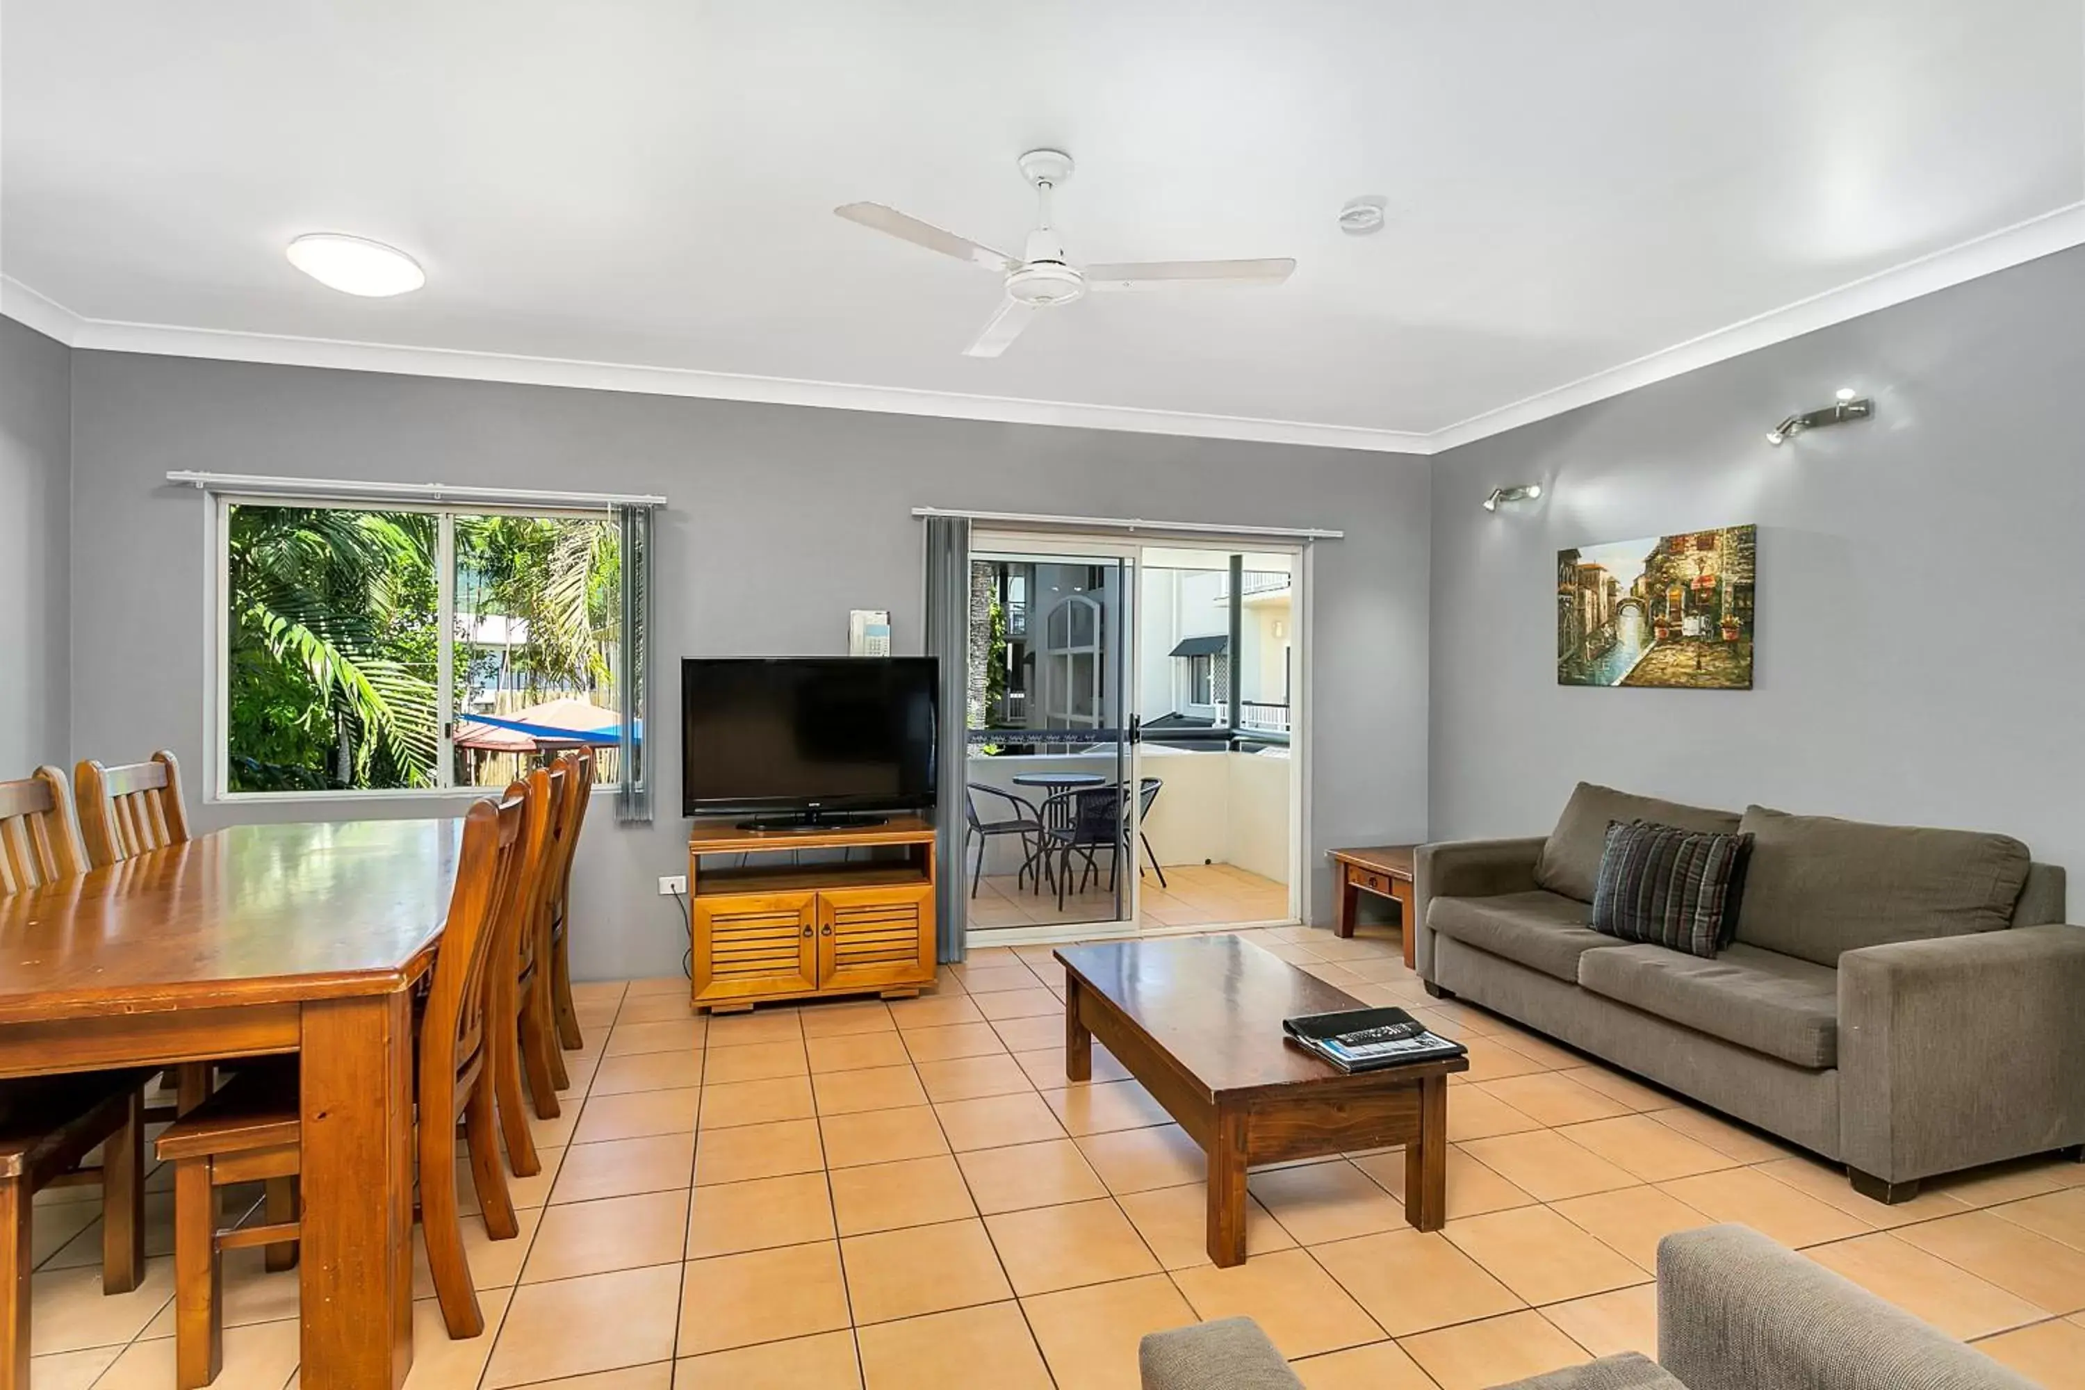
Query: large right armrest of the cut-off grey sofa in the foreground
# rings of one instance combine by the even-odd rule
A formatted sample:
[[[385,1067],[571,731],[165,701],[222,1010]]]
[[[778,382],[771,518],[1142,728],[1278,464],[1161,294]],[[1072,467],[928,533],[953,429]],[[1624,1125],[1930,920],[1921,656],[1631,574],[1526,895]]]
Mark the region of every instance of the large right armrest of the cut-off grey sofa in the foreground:
[[[2033,1388],[1747,1225],[1658,1242],[1658,1361],[1687,1390]]]

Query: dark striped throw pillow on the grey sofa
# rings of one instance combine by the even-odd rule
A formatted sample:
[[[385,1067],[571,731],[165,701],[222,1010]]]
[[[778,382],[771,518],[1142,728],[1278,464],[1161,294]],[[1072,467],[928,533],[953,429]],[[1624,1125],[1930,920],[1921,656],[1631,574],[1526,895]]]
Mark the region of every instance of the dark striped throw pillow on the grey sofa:
[[[1751,836],[1616,821],[1593,882],[1593,929],[1714,957],[1737,932],[1749,857]]]

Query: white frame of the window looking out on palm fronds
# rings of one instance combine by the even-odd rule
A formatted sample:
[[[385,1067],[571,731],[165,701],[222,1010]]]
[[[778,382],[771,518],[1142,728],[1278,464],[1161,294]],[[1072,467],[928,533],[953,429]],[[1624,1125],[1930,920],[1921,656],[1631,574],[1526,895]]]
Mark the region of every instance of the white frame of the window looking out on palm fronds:
[[[432,788],[346,788],[325,792],[234,792],[231,790],[231,623],[227,604],[231,600],[231,508],[234,506],[296,506],[327,511],[377,511],[377,513],[432,513],[436,523],[436,621],[446,636],[436,646],[436,786]],[[586,519],[600,521],[615,517],[613,511],[594,506],[530,506],[490,504],[459,498],[455,502],[421,502],[392,498],[346,498],[346,496],[302,496],[302,494],[240,494],[213,492],[206,508],[206,533],[211,565],[208,594],[202,604],[204,650],[211,652],[211,675],[204,700],[206,738],[211,748],[208,777],[204,777],[204,804],[311,804],[311,802],[413,802],[413,800],[477,800],[486,788],[455,786],[455,748],[448,742],[455,723],[455,606],[457,606],[457,517],[538,517],[538,519]],[[628,679],[628,675],[626,675]],[[615,792],[621,784],[596,781],[594,792]]]

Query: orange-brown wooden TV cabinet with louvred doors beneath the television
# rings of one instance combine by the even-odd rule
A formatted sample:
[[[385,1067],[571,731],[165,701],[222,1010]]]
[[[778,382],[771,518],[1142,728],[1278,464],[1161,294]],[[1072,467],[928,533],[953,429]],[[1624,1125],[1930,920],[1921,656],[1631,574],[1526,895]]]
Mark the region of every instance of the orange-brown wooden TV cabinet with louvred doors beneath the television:
[[[824,852],[796,863],[801,850]],[[696,1009],[907,998],[934,984],[934,825],[911,815],[859,829],[696,821],[688,907]]]

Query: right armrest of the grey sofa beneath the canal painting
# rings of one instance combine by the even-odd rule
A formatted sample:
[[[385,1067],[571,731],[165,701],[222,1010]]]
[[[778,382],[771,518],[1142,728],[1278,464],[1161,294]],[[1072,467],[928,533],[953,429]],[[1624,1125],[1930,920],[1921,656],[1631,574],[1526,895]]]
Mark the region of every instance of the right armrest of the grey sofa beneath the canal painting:
[[[2085,927],[1839,957],[1839,1148],[1914,1182],[2085,1142]]]

